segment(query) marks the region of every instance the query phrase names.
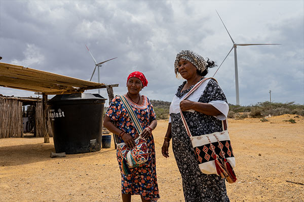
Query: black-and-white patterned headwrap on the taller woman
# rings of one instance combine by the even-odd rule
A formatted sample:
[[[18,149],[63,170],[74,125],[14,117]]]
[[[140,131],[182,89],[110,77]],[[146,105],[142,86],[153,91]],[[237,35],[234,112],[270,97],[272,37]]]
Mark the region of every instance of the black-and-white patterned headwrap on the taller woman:
[[[206,69],[207,63],[202,56],[192,51],[181,51],[176,55],[174,62],[175,74],[178,72],[178,62],[180,59],[191,62],[201,73]]]

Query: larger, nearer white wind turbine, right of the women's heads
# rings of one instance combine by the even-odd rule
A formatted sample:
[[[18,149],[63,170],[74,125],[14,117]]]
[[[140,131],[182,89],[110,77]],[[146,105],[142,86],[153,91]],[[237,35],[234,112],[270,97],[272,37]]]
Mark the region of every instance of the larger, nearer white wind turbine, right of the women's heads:
[[[215,10],[216,11],[216,10]],[[217,11],[216,11],[217,13]],[[233,42],[233,46],[232,48],[230,49],[230,52],[227,54],[227,56],[224,58],[223,62],[226,60],[226,58],[229,56],[229,54],[231,53],[232,49],[234,49],[234,54],[235,54],[235,78],[236,78],[236,104],[237,105],[240,105],[240,96],[239,96],[239,75],[238,75],[238,57],[237,57],[237,46],[240,45],[240,46],[247,46],[247,45],[281,45],[281,44],[278,44],[278,43],[235,43],[234,40],[232,39],[229,31],[227,30],[224,22],[222,21],[222,19],[220,18],[219,14],[217,13],[220,21],[223,23],[227,33],[229,34],[232,42]],[[223,64],[223,62],[220,64],[220,66]],[[220,66],[217,68],[217,70],[220,68]],[[216,72],[217,72],[216,70]],[[216,74],[216,72],[214,73],[214,75]],[[213,75],[213,76],[214,76]]]

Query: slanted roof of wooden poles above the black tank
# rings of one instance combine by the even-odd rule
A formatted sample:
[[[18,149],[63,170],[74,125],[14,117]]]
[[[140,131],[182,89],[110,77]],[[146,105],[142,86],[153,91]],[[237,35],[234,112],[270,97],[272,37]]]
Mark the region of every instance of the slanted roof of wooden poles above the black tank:
[[[0,86],[45,94],[77,93],[106,87],[104,83],[85,81],[6,63],[0,63]]]

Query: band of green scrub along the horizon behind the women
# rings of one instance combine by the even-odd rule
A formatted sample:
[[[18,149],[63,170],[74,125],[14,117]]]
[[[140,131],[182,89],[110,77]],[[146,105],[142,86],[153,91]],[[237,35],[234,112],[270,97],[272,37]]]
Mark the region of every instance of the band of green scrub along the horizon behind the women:
[[[158,119],[169,118],[170,102],[150,100]],[[304,105],[290,103],[263,102],[251,106],[236,106],[229,104],[228,118],[244,119],[247,117],[262,118],[265,116],[279,116],[283,114],[295,114],[304,116]]]

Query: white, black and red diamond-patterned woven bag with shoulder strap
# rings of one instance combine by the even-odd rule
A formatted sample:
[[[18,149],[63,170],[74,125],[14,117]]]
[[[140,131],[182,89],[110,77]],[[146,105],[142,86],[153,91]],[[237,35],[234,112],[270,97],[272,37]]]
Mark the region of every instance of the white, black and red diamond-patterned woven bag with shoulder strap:
[[[209,78],[205,78],[198,82],[186,94],[183,100],[186,99],[191,93],[193,93],[207,79]],[[186,132],[191,139],[194,153],[202,173],[217,174],[220,177],[225,178],[229,183],[236,182],[237,178],[233,170],[236,162],[227,130],[226,120],[222,121],[221,132],[192,136],[181,110],[180,116]]]

